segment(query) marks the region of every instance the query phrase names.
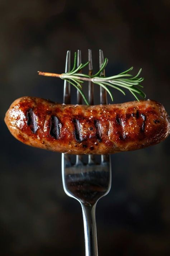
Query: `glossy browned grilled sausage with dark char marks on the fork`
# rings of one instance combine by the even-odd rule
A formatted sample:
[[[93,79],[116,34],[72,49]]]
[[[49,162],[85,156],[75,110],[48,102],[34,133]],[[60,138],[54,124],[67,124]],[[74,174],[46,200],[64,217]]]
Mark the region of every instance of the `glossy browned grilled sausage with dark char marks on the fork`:
[[[154,100],[87,106],[22,97],[11,104],[5,123],[27,145],[70,154],[136,150],[170,133],[170,117]]]

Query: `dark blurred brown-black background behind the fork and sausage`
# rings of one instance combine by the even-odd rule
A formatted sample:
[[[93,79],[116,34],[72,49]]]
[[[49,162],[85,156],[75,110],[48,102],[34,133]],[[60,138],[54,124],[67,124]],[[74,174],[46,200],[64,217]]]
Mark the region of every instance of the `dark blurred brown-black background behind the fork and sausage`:
[[[37,71],[62,73],[68,49],[72,57],[81,49],[86,62],[91,48],[96,71],[99,49],[107,75],[142,67],[147,98],[170,113],[169,16],[169,0],[0,1],[0,255],[85,255],[81,207],[63,192],[61,154],[13,138],[3,120],[10,104],[27,95],[62,102],[63,82]],[[113,93],[114,103],[134,100]],[[112,155],[112,189],[96,208],[99,255],[169,255],[169,153],[170,138]]]

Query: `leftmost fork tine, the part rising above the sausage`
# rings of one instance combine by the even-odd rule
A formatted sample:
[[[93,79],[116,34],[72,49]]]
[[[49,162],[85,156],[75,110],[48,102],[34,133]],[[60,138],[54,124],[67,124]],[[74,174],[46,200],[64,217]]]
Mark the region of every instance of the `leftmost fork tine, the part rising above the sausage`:
[[[65,67],[65,73],[70,71],[70,50],[67,51],[66,55],[66,67]],[[70,83],[64,80],[64,93],[63,93],[63,103],[70,104]]]

